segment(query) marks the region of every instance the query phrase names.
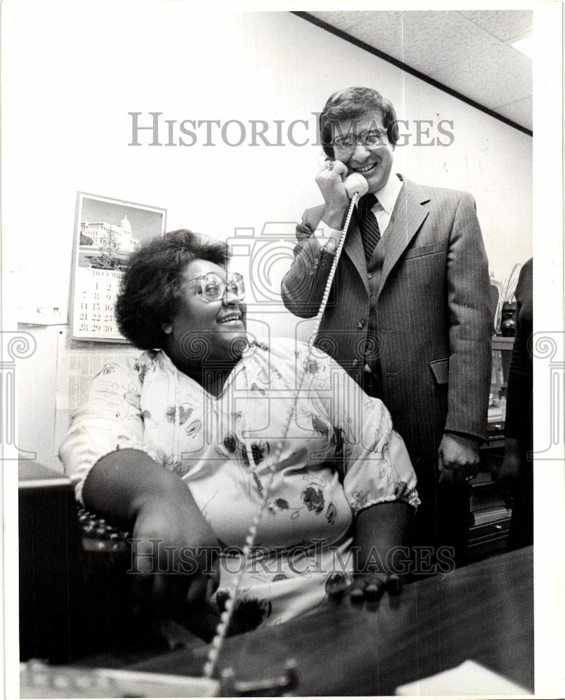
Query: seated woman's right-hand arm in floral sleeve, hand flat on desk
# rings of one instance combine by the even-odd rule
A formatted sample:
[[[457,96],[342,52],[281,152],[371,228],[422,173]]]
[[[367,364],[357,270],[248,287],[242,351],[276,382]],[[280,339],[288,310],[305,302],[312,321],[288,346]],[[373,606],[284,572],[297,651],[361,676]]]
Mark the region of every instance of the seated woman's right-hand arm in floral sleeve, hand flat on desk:
[[[416,475],[385,405],[366,395],[332,360],[323,369],[323,388],[332,387],[326,400],[329,419],[334,433],[343,434],[343,490],[355,514],[358,575],[348,592],[352,598],[378,598],[382,583],[398,587],[400,576],[409,572],[408,545],[420,503]]]

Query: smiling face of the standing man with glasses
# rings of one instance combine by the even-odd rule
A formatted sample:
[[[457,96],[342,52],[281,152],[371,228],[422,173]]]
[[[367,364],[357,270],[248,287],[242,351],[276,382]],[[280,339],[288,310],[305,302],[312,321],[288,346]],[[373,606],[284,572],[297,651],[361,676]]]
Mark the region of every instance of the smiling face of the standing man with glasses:
[[[380,111],[368,112],[358,120],[343,121],[334,132],[334,155],[358,172],[369,184],[369,192],[377,193],[392,172],[392,152]]]

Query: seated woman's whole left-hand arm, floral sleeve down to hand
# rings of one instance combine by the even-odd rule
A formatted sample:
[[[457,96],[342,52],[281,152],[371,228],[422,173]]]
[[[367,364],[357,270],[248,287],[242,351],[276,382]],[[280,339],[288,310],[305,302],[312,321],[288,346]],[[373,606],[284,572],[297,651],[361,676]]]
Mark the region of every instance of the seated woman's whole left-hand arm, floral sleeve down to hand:
[[[210,568],[213,558],[209,550],[193,550],[217,541],[187,485],[150,456],[142,393],[143,374],[133,359],[106,365],[59,457],[78,500],[131,531],[130,572],[139,603],[151,615],[180,619],[187,600],[203,598],[208,579],[197,572]]]

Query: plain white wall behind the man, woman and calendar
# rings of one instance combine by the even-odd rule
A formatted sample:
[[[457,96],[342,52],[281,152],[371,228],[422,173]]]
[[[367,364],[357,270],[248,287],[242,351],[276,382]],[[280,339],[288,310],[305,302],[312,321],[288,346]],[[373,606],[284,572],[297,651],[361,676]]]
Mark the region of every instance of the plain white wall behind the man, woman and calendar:
[[[186,225],[228,238],[236,228],[259,233],[274,222],[271,232],[292,239],[296,218],[320,202],[312,112],[347,85],[378,87],[401,119],[452,121],[449,147],[397,148],[396,169],[473,193],[498,279],[531,256],[531,139],[294,15],[210,14],[189,3],[8,3],[5,27],[8,20],[3,291],[17,304],[5,314],[5,328],[29,320],[39,302],[66,306],[77,190],[165,207],[169,230]],[[246,139],[228,146],[215,137],[215,146],[205,146],[205,131],[197,130],[192,147],[128,146],[132,111],[143,113],[145,124],[152,111],[177,126],[184,119],[239,120]],[[285,133],[283,146],[250,146],[254,119],[271,130],[275,120],[285,120],[285,129],[307,120],[308,132],[297,124],[294,135],[310,143],[292,145]],[[226,132],[232,143],[238,128]],[[145,144],[147,134],[140,137]],[[166,128],[160,140],[167,141]],[[288,254],[288,245],[274,246],[267,291],[278,289]],[[238,265],[245,269],[248,260]],[[273,334],[294,332],[296,319],[280,304],[264,308],[252,305],[250,315]],[[20,446],[57,465],[54,393],[67,328],[31,332],[38,350],[20,372]],[[59,378],[66,391],[61,384]]]

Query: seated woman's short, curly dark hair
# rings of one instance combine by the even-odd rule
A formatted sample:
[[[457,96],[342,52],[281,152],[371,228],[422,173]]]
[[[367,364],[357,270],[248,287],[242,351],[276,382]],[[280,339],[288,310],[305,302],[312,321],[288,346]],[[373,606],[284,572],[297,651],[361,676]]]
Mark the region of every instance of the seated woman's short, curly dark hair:
[[[226,267],[227,245],[185,228],[149,239],[131,254],[120,284],[115,315],[117,327],[141,350],[161,348],[162,323],[176,314],[182,299],[182,273],[191,260]]]

